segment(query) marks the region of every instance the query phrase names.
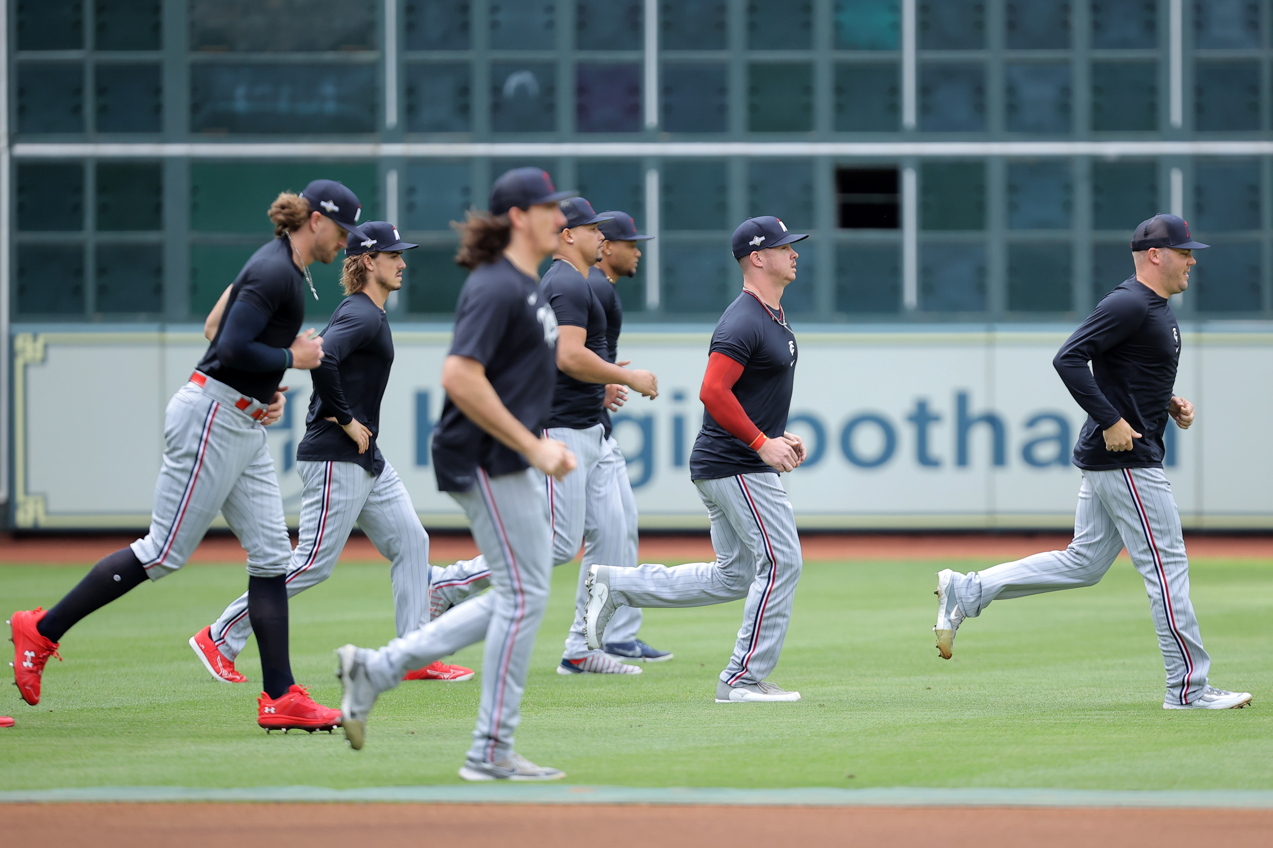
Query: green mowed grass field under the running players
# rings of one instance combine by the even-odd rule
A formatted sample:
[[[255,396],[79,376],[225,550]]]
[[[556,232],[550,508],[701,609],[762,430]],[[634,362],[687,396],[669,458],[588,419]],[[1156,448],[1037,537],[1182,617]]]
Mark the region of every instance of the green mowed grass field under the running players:
[[[1125,559],[1096,587],[993,605],[960,631],[950,662],[937,657],[931,632],[941,564],[807,564],[771,675],[803,701],[782,704],[713,703],[741,603],[647,610],[643,636],[676,659],[640,676],[558,675],[577,573],[564,566],[517,748],[587,784],[1273,788],[1270,566],[1193,563],[1212,683],[1255,695],[1248,709],[1221,712],[1161,708],[1148,601]],[[3,567],[0,605],[48,605],[83,573]],[[339,731],[258,730],[255,643],[239,660],[252,681],[241,685],[214,681],[186,645],[244,586],[242,567],[190,566],[76,626],[62,641],[66,661],[50,662],[38,707],[0,690],[0,715],[18,721],[0,730],[0,784],[460,782],[480,678],[387,693],[362,751]],[[339,706],[332,648],[392,636],[387,564],[341,564],[293,603],[297,679]],[[481,646],[453,661],[480,675]]]

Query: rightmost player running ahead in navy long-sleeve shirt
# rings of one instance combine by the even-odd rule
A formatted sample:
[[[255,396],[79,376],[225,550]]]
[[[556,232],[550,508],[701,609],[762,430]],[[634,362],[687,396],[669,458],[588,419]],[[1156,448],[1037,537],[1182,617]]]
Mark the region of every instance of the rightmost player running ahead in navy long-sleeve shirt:
[[[955,632],[997,598],[1094,586],[1127,547],[1144,578],[1167,670],[1164,709],[1230,709],[1251,701],[1207,683],[1211,657],[1189,601],[1189,558],[1171,484],[1162,470],[1170,417],[1181,430],[1194,407],[1172,394],[1180,327],[1167,299],[1189,287],[1193,252],[1206,248],[1175,215],[1142,221],[1132,236],[1136,273],[1096,305],[1051,364],[1087,412],[1074,464],[1082,469],[1074,540],[980,572],[937,575],[937,650],[951,659]],[[1091,370],[1088,370],[1091,362]]]

